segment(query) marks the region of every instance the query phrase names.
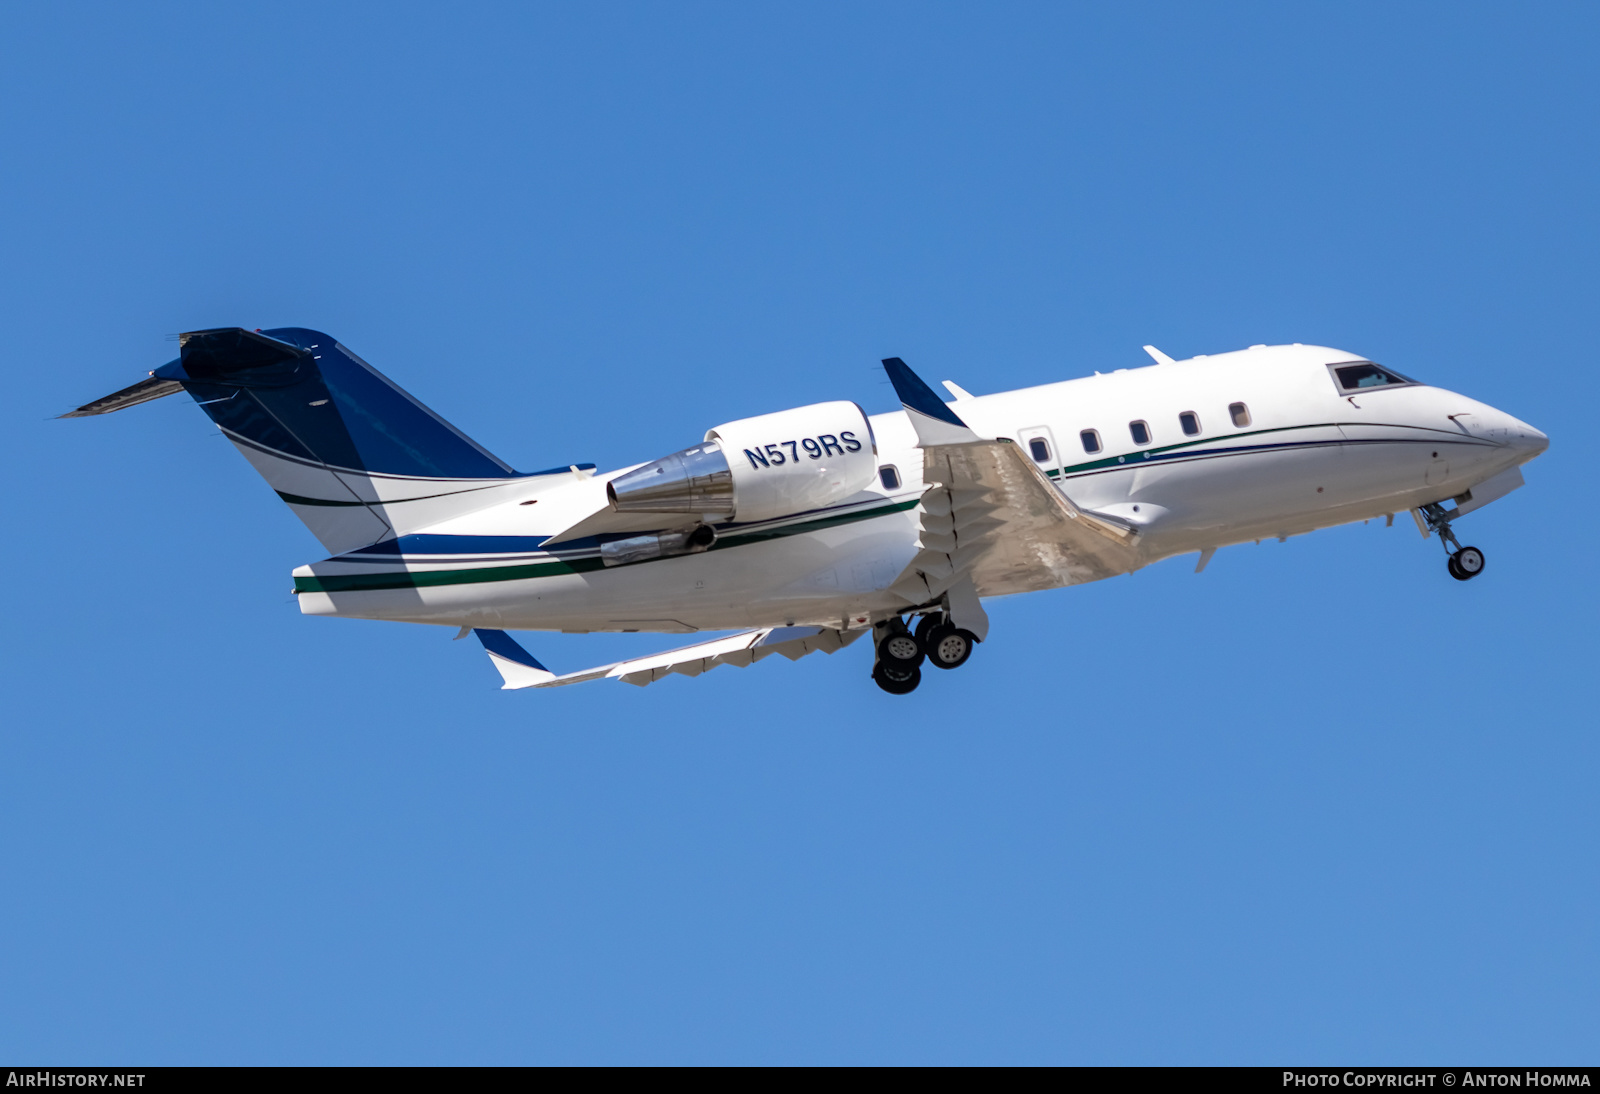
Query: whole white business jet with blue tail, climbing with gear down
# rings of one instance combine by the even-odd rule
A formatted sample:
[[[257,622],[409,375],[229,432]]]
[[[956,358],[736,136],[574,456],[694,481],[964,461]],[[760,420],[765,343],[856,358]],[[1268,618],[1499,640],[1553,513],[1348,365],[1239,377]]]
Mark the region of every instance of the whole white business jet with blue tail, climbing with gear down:
[[[66,414],[178,392],[322,541],[307,616],[459,627],[506,688],[648,685],[872,635],[872,678],[917,688],[989,632],[984,597],[1410,513],[1483,573],[1454,521],[1549,446],[1504,411],[1323,345],[1251,345],[946,403],[899,358],[904,409],[746,417],[648,464],[520,473],[318,331],[181,336],[181,357]],[[507,630],[739,633],[555,673]]]

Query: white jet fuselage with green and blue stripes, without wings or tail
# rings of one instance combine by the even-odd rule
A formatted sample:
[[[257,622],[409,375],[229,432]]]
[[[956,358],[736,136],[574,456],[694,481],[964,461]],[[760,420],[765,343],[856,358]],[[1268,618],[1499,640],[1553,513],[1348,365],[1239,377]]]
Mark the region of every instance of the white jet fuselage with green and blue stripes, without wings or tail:
[[[952,408],[981,437],[1030,451],[1043,441],[1040,467],[1078,509],[1138,528],[1144,563],[1440,502],[1547,445],[1531,425],[1438,387],[1341,393],[1328,366],[1358,360],[1317,345],[1253,347]],[[1186,413],[1197,433],[1182,430]],[[878,464],[896,469],[898,488],[722,526],[704,553],[603,566],[584,541],[546,547],[544,537],[605,509],[605,481],[629,469],[574,472],[408,536],[403,555],[357,550],[296,569],[301,609],[566,632],[883,619],[904,608],[886,590],[918,550],[922,449],[902,411],[870,421]],[[1146,424],[1146,443],[1133,422]],[[1086,430],[1101,451],[1085,451]]]

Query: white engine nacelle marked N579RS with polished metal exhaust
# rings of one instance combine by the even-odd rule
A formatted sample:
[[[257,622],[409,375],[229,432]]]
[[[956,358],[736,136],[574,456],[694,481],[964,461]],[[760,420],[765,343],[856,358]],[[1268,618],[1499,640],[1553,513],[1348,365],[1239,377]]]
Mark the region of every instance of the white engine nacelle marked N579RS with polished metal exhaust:
[[[606,483],[619,513],[771,520],[850,497],[878,470],[872,425],[848,401],[742,417]]]

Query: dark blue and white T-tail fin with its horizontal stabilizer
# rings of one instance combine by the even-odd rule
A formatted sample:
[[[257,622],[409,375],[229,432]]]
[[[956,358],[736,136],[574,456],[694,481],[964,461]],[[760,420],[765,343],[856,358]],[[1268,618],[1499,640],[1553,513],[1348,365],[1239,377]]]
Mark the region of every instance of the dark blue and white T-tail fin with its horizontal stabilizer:
[[[525,481],[328,334],[221,328],[181,357],[72,411],[104,414],[181,385],[331,553],[499,501]]]

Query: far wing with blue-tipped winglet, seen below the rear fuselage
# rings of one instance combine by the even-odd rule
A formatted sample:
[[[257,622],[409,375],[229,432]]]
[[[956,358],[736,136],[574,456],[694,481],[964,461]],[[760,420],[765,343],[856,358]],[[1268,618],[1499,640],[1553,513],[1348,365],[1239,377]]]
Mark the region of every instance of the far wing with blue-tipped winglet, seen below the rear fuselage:
[[[618,661],[610,665],[568,672],[565,675],[557,675],[541,665],[504,630],[477,629],[472,633],[483,643],[490,661],[499,670],[501,678],[506,681],[501,689],[506,691],[515,688],[560,688],[586,680],[621,680],[622,683],[643,688],[672,673],[698,677],[717,665],[738,665],[742,669],[773,654],[782,654],[789,661],[798,661],[818,649],[830,654],[835,649],[843,649],[867,632],[834,630],[832,627],[765,627],[762,630],[746,630],[726,638],[683,646],[682,649],[669,649],[667,653],[634,657],[632,661]]]

